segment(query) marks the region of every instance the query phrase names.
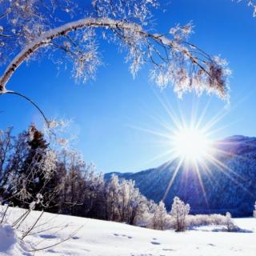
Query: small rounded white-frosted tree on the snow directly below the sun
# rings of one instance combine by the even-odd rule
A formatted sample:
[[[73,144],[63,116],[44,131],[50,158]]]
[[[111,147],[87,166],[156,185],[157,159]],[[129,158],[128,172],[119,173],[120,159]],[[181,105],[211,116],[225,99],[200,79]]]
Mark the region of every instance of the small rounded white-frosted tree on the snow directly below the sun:
[[[174,218],[175,231],[186,230],[186,217],[190,213],[190,205],[185,204],[180,198],[175,197],[170,214]]]

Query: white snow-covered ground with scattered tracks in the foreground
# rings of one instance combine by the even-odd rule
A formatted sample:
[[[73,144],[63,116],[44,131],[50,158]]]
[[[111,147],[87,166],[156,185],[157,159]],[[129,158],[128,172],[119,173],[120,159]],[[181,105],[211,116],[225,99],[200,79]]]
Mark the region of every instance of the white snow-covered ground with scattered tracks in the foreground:
[[[10,209],[8,222],[13,222],[21,209]],[[38,217],[34,211],[22,224],[23,230]],[[88,256],[255,256],[256,218],[238,218],[236,225],[245,233],[216,232],[214,226],[201,227],[184,233],[172,230],[148,230],[116,222],[89,218],[43,214],[37,232],[18,242],[10,226],[0,228],[0,255],[34,255],[26,253],[33,246],[42,248],[66,239],[75,230],[70,240],[39,250],[35,255],[88,255]],[[54,229],[51,229],[54,228]],[[34,233],[34,232],[33,232]],[[19,234],[18,234],[19,235]]]

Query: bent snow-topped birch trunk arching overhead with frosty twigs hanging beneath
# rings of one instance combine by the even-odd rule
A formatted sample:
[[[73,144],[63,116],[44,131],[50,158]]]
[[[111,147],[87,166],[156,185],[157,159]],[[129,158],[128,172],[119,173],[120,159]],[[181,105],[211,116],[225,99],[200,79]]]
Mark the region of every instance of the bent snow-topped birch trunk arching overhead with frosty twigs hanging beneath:
[[[54,45],[54,39],[67,37],[73,31],[94,28],[110,30],[121,40],[122,47],[126,47],[129,51],[127,61],[131,61],[132,74],[135,75],[145,62],[151,62],[153,69],[150,75],[159,86],[174,84],[174,90],[180,95],[190,90],[195,90],[198,94],[206,90],[218,94],[221,98],[226,98],[228,93],[227,77],[230,70],[226,69],[226,62],[220,58],[210,58],[210,55],[183,40],[190,34],[190,24],[173,28],[170,30],[170,36],[166,37],[162,34],[150,34],[136,23],[112,18],[83,18],[43,33],[39,38],[30,42],[7,66],[0,78],[2,94],[6,92],[6,83],[18,66],[37,50]],[[70,42],[76,48],[78,47],[71,39]],[[70,52],[70,44],[67,42],[64,42],[61,48],[66,50],[66,53]],[[75,78],[85,75],[83,72],[92,75],[96,66],[100,64],[97,60],[97,49],[94,43],[91,43],[85,54],[82,53],[82,50],[75,51],[75,53],[71,51],[71,53],[72,56],[78,57],[75,60],[77,65]],[[88,65],[86,66],[86,64]]]

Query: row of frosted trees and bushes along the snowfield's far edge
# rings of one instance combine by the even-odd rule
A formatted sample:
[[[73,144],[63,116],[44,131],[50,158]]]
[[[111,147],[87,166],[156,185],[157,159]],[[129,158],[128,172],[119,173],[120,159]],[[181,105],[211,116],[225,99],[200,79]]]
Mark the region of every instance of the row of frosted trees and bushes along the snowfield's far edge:
[[[182,231],[194,223],[223,225],[230,219],[219,214],[192,218],[190,206],[177,197],[168,214],[164,202],[148,200],[134,181],[114,174],[104,179],[81,154],[52,146],[34,125],[16,136],[11,128],[0,131],[0,197],[10,206],[158,230]]]

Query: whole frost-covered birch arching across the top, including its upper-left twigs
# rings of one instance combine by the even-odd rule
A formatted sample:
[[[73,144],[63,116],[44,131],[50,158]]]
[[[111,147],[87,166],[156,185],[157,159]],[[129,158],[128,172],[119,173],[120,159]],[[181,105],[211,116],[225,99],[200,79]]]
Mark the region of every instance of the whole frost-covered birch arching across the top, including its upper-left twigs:
[[[102,64],[100,46],[106,40],[126,52],[133,76],[150,64],[150,78],[161,87],[173,85],[179,96],[194,90],[227,98],[226,61],[189,42],[190,22],[154,32],[159,6],[157,0],[1,0],[0,64],[6,68],[0,93],[13,94],[7,83],[18,66],[41,56],[71,63],[74,78],[86,82]]]

